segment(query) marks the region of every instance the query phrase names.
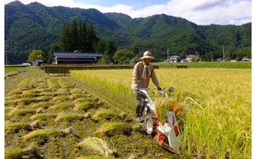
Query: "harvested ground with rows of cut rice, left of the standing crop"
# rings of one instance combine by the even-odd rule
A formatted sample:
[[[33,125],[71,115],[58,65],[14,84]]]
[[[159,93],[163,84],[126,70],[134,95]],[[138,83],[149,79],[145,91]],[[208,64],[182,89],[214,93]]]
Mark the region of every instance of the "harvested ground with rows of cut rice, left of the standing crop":
[[[130,103],[115,100],[111,90],[99,86],[69,76],[47,76],[38,68],[7,79],[4,158],[176,158],[145,134],[142,124],[133,119],[133,109],[125,108]],[[98,118],[104,109],[118,116]],[[88,139],[107,146],[81,143]]]

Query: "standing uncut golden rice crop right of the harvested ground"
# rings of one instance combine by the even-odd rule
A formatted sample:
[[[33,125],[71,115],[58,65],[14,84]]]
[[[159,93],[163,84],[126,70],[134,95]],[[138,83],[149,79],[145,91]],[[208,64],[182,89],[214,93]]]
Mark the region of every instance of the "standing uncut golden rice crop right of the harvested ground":
[[[252,153],[252,70],[225,68],[155,69],[161,88],[174,87],[170,96],[193,103],[183,119],[185,158],[251,158]],[[132,70],[79,70],[71,76],[106,86],[109,96],[130,102]],[[93,83],[92,83],[93,84]],[[96,87],[96,86],[93,86]],[[151,82],[150,88],[154,85]],[[111,95],[110,95],[111,94]],[[118,95],[118,96],[117,96]],[[123,99],[124,95],[129,98]],[[131,103],[131,102],[130,102]],[[134,110],[134,105],[128,107]]]

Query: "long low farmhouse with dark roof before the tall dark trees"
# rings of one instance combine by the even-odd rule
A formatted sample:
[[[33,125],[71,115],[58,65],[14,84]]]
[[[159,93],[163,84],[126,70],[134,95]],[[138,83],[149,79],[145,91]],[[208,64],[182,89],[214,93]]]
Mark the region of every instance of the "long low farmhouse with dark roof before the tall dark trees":
[[[103,55],[87,52],[54,52],[54,64],[95,64]]]

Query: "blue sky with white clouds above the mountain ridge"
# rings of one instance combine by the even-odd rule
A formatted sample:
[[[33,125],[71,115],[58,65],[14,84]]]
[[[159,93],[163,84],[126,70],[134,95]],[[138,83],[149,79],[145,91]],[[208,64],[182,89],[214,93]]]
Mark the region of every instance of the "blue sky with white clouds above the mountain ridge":
[[[7,4],[14,0],[4,0]],[[155,14],[185,18],[197,25],[242,25],[252,22],[252,0],[19,0],[37,1],[45,6],[96,8],[102,13],[117,12],[131,18]]]

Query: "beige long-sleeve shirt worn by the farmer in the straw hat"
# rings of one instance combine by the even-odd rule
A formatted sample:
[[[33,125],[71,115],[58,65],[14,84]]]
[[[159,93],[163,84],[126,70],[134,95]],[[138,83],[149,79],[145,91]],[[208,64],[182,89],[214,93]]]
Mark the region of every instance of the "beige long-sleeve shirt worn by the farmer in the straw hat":
[[[144,61],[138,62],[137,64],[134,65],[133,75],[132,75],[132,84],[131,84],[131,89],[133,90],[135,90],[135,87],[137,86],[139,86],[139,88],[147,89],[149,87],[150,78],[152,79],[152,82],[156,87],[160,87],[158,78],[156,76],[156,73],[152,64],[148,64],[149,69],[147,69],[147,72],[146,72],[146,79],[142,78],[144,65],[145,65]],[[149,73],[149,70],[151,71],[151,75]]]

